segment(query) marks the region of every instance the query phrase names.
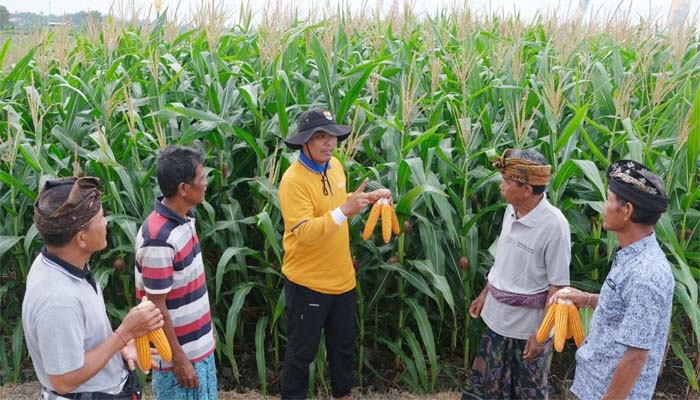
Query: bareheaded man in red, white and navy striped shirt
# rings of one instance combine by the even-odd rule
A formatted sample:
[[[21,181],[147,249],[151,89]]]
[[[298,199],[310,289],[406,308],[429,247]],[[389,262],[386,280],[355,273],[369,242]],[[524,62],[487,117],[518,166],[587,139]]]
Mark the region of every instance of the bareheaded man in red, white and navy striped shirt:
[[[172,362],[154,355],[157,399],[216,399],[215,340],[202,253],[192,209],[204,201],[202,154],[172,146],[158,155],[163,194],[136,238],[136,295],[163,312]]]

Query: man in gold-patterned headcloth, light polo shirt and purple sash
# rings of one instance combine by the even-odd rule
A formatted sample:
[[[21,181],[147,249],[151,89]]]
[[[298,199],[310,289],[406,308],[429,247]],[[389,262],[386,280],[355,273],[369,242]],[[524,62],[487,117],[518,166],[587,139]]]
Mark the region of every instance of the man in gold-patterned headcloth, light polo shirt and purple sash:
[[[544,399],[552,344],[535,334],[548,296],[569,285],[569,224],[547,201],[540,153],[506,150],[494,166],[508,207],[488,284],[469,308],[486,329],[462,399]]]

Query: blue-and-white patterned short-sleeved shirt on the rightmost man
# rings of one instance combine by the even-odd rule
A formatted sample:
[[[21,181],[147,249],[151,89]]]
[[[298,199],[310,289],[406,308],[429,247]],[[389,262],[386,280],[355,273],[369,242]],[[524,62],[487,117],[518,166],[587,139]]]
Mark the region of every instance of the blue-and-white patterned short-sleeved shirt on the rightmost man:
[[[671,324],[674,286],[655,234],[617,251],[588,337],[576,352],[571,391],[578,398],[603,397],[629,347],[649,350],[649,358],[628,398],[652,398]]]

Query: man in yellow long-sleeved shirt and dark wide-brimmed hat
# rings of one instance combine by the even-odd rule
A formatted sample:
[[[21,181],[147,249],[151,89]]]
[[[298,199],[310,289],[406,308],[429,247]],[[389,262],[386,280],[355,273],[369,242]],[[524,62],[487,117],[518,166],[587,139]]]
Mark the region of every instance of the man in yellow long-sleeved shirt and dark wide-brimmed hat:
[[[343,165],[333,157],[333,150],[351,128],[337,125],[330,112],[303,112],[297,128],[285,143],[300,150],[299,159],[284,173],[279,187],[288,335],[282,399],[306,398],[308,367],[322,331],[332,395],[349,399],[355,384],[357,295],[347,219],[381,198],[391,200],[391,192],[364,193],[365,179],[348,195]]]

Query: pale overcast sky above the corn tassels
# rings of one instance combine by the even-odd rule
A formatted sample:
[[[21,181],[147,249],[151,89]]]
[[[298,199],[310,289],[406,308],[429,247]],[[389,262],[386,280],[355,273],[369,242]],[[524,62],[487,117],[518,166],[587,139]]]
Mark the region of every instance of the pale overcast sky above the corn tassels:
[[[77,11],[99,11],[106,14],[114,0],[0,0],[0,5],[4,5],[10,12],[31,11],[35,13],[56,15],[74,13]],[[152,7],[153,0],[116,0],[118,4],[134,4],[137,9],[147,10]],[[195,8],[203,0],[162,0],[164,7],[175,8],[178,3],[180,10],[188,11]],[[211,0],[204,0],[209,2]],[[215,0],[219,3],[222,0]],[[280,0],[287,4],[290,0]],[[416,12],[432,13],[436,8],[449,7],[454,0],[411,0]],[[458,0],[461,4],[464,0]],[[524,18],[529,18],[537,12],[557,10],[560,14],[572,14],[577,8],[580,0],[468,0],[470,8],[475,11],[505,11],[512,13],[514,10]],[[584,0],[589,2],[588,12],[597,15],[609,15],[618,6],[624,10],[630,10],[635,17],[648,17],[654,15],[665,18],[672,0]],[[700,9],[700,0],[680,0],[689,5],[689,14],[692,16]],[[238,10],[241,0],[223,0],[230,10]],[[351,5],[359,5],[363,0],[346,0]],[[364,0],[367,4],[379,4],[380,0]],[[253,10],[257,13],[264,9],[267,3],[265,0],[253,0]],[[295,0],[300,9],[306,9],[313,5],[336,4],[337,1],[330,0]],[[392,0],[384,0],[386,9]],[[403,4],[403,0],[399,0]]]

